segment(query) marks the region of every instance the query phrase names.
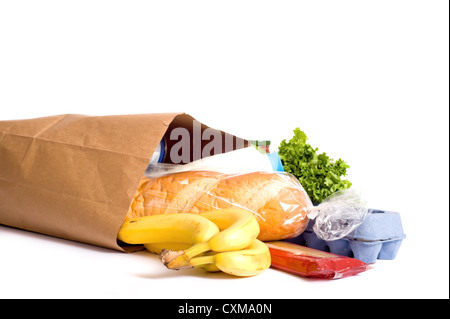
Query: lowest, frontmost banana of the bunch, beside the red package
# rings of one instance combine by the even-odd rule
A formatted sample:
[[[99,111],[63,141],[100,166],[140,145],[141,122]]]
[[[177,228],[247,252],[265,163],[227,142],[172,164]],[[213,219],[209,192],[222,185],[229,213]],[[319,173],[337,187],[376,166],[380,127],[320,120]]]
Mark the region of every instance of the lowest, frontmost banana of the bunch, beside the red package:
[[[220,269],[234,276],[255,276],[269,268],[270,263],[269,248],[262,241],[255,239],[243,250],[227,251],[192,258],[189,261],[189,266],[203,267],[209,271]],[[212,268],[208,269],[207,267]]]

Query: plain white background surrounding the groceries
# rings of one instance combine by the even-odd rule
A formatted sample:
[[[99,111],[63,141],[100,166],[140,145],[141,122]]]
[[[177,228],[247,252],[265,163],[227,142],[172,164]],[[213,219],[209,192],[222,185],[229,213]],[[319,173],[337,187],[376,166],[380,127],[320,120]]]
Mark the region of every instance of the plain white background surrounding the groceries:
[[[1,298],[448,298],[448,1],[0,1],[0,120],[183,111],[271,150],[300,127],[401,213],[334,281],[169,271],[0,226]]]

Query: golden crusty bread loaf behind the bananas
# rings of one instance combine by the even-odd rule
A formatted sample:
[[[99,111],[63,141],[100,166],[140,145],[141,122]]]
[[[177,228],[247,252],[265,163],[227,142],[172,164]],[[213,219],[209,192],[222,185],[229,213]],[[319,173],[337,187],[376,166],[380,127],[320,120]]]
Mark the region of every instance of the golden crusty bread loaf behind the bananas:
[[[250,210],[263,241],[295,237],[308,223],[311,200],[295,177],[277,172],[227,175],[189,171],[141,179],[126,220],[157,214],[198,214],[216,208]]]

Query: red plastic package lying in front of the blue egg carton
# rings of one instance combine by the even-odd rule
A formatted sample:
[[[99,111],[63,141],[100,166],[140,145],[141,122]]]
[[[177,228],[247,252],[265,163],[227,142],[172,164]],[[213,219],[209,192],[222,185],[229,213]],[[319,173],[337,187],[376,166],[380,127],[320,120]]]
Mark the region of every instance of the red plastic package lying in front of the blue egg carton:
[[[359,259],[285,241],[273,241],[266,244],[272,258],[271,267],[302,277],[339,279],[359,274],[370,268]]]

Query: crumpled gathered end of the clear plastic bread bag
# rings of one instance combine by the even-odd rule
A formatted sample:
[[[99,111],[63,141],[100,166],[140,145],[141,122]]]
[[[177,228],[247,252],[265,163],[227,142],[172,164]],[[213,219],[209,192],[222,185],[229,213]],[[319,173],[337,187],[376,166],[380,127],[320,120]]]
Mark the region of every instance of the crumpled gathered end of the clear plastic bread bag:
[[[326,241],[347,236],[364,222],[369,213],[360,192],[352,188],[334,193],[308,211],[308,218],[315,219],[314,232]]]

